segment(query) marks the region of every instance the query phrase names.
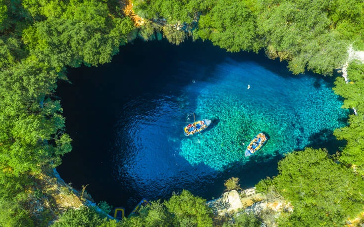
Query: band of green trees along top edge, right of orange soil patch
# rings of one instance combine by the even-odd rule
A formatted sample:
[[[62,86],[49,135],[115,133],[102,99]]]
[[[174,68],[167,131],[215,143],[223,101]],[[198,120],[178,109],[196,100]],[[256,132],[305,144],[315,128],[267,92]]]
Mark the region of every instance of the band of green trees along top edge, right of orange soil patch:
[[[357,0],[137,0],[134,8],[164,25],[172,43],[192,33],[231,52],[264,48],[270,58],[288,61],[294,74],[332,75],[349,44],[364,49],[364,2]]]

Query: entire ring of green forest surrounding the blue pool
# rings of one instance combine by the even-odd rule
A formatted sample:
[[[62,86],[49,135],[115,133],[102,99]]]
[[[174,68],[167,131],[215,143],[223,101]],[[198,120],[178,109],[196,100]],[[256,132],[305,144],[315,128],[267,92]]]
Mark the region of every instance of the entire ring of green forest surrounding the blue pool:
[[[360,0],[135,0],[143,18],[138,26],[123,3],[0,0],[0,226],[47,226],[54,219],[34,204],[47,194],[41,174],[72,150],[54,95],[57,81],[68,81],[67,67],[110,62],[120,45],[137,37],[177,45],[191,37],[232,52],[264,50],[287,61],[294,74],[326,76],[346,63],[349,46],[364,50]],[[352,62],[348,76],[348,84],[339,77],[334,88],[345,98],[343,108],[356,109],[348,126],[334,132],[347,145],[333,156],[311,148],[288,154],[279,175],[257,185],[292,202],[293,212],[282,214],[279,225],[341,226],[364,210],[364,65]],[[187,201],[190,209],[181,209]],[[187,191],[143,209],[119,223],[90,208],[70,210],[54,225],[213,225],[205,201]],[[254,217],[241,219],[259,225]]]

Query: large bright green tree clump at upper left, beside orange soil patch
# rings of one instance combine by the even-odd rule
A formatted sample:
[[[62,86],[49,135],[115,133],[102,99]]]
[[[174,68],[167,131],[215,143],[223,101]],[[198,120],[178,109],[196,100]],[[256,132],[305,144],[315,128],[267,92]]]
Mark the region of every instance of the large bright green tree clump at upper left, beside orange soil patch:
[[[129,18],[109,17],[106,3],[86,0],[69,3],[59,17],[52,16],[24,31],[30,53],[56,69],[98,65],[111,61],[133,29]]]

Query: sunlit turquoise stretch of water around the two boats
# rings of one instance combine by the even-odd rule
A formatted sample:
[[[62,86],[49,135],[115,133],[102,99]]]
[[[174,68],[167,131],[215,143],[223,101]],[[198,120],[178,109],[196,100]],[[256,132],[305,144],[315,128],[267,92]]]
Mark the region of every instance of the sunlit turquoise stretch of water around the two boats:
[[[203,163],[219,171],[231,163],[302,150],[312,136],[343,127],[338,119],[347,115],[323,79],[277,75],[250,61],[227,58],[207,81],[187,86],[185,95],[191,91],[197,95],[197,118],[218,123],[203,135],[183,138],[179,154],[192,165]],[[186,123],[192,120],[189,115]],[[254,156],[244,157],[247,145],[260,132],[269,140]]]

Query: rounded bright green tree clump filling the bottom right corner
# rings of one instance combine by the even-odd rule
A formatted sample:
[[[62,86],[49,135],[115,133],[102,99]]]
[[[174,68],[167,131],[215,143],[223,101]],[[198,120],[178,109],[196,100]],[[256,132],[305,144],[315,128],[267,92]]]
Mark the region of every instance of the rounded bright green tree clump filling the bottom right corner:
[[[288,154],[278,163],[278,170],[279,175],[269,180],[270,187],[274,185],[294,207],[291,215],[281,216],[279,225],[344,225],[364,208],[364,182],[323,150],[307,148]]]

